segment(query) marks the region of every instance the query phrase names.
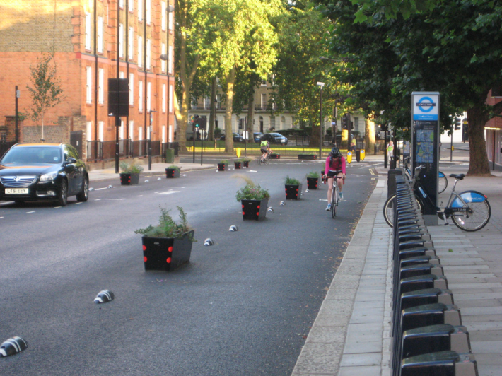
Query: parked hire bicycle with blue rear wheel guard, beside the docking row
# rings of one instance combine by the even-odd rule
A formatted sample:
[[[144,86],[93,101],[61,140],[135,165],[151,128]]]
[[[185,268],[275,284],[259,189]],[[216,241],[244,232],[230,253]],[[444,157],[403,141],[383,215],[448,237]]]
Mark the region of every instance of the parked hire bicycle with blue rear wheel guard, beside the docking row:
[[[463,180],[465,174],[450,174],[450,177],[455,178],[455,184],[450,192],[448,204],[445,207],[436,206],[431,198],[426,193],[424,187],[420,184],[419,170],[424,169],[424,166],[419,166],[415,169],[413,180],[409,182],[413,187],[416,202],[420,211],[424,212],[424,204],[428,203],[436,209],[436,213],[440,219],[448,225],[448,218],[452,218],[453,223],[464,231],[477,231],[484,228],[491,217],[491,206],[488,198],[477,191],[465,191],[460,194],[455,192],[455,187],[459,180]],[[394,226],[394,206],[396,204],[396,194],[390,196],[383,206],[383,216],[385,222],[390,227]]]

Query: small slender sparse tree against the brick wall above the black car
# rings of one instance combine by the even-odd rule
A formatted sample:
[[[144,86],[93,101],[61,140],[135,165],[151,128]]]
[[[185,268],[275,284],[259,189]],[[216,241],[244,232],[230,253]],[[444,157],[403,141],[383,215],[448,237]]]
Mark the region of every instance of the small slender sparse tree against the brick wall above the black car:
[[[64,99],[61,81],[57,77],[56,61],[53,60],[54,54],[42,54],[42,57],[37,57],[37,65],[30,65],[30,81],[33,84],[33,88],[28,85],[26,86],[33,102],[31,117],[35,122],[38,119],[42,121],[42,142],[45,141],[45,113]],[[51,61],[54,62],[53,65]]]

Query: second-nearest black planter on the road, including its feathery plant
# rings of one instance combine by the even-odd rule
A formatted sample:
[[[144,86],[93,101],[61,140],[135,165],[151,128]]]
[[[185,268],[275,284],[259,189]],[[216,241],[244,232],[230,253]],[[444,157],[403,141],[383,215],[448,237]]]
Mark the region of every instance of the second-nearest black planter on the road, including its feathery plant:
[[[260,187],[259,184],[253,183],[247,176],[233,175],[233,177],[240,177],[246,182],[246,185],[239,189],[235,195],[235,199],[240,201],[243,206],[243,220],[259,221],[265,218],[270,198],[269,191]]]

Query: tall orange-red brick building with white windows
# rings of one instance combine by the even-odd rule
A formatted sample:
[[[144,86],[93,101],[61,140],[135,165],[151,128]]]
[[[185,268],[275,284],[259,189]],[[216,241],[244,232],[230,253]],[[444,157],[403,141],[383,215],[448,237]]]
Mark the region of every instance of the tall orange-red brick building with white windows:
[[[115,158],[107,79],[117,78],[117,55],[119,78],[129,78],[129,117],[122,117],[119,127],[121,155],[146,153],[150,124],[156,145],[173,142],[174,13],[167,12],[168,6],[174,0],[3,0],[0,136],[13,141],[16,134],[16,86],[21,92],[18,110],[30,112],[30,66],[47,52],[54,54],[64,100],[45,115],[46,142],[67,142],[80,132],[84,158],[107,159],[110,150]],[[40,124],[29,117],[19,130],[20,141],[40,140]]]

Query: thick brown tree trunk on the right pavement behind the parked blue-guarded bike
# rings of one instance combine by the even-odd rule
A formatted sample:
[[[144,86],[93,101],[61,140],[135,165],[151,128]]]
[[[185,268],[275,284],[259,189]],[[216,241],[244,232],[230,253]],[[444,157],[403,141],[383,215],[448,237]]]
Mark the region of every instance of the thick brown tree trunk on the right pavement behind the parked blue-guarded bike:
[[[484,141],[484,126],[488,122],[489,116],[481,105],[471,107],[467,110],[467,120],[469,122],[469,170],[468,176],[491,175],[486,153],[486,142]]]

